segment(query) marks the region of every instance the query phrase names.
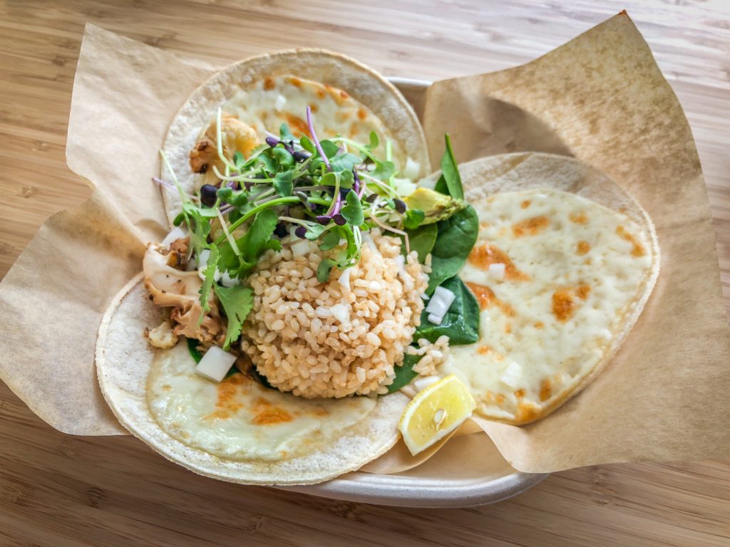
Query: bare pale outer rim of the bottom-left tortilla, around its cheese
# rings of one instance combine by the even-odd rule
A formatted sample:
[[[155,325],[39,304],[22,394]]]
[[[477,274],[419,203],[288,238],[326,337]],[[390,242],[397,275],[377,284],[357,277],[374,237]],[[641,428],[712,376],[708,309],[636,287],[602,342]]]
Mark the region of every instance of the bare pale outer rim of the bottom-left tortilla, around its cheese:
[[[231,461],[185,445],[161,429],[147,406],[147,376],[155,352],[164,350],[147,344],[142,333],[161,319],[161,309],[147,298],[140,274],[120,291],[104,314],[96,342],[96,371],[101,392],[120,423],[167,459],[223,481],[314,484],[361,468],[398,440],[398,422],[408,402],[401,393],[379,397],[374,410],[363,421],[342,430],[339,438],[326,444],[312,443],[307,454],[291,459]],[[339,402],[346,401],[332,401]],[[261,426],[262,435],[266,435],[266,427]]]

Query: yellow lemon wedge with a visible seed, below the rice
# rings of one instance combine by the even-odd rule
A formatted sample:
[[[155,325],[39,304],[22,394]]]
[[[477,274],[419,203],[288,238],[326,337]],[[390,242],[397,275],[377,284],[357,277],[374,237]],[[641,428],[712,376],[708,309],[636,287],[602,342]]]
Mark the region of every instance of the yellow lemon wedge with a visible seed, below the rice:
[[[451,374],[413,397],[403,411],[398,429],[415,456],[456,430],[476,406],[469,389]]]

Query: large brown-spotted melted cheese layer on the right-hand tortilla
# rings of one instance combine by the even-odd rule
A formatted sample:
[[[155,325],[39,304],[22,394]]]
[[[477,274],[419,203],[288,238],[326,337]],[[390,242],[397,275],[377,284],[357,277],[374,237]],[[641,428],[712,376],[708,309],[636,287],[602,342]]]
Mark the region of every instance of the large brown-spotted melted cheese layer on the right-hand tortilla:
[[[618,212],[559,190],[472,203],[480,232],[460,272],[482,309],[480,341],[453,346],[439,373],[481,414],[525,422],[602,361],[650,276],[649,242]],[[504,263],[504,279],[488,274]]]

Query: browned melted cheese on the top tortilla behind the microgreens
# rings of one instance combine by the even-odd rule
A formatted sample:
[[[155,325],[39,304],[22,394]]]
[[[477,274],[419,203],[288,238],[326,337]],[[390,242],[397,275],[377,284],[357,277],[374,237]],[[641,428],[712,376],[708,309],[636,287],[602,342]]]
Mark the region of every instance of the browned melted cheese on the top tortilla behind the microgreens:
[[[343,136],[367,144],[370,132],[374,131],[380,137],[376,153],[384,156],[385,140],[391,139],[393,163],[398,168],[405,165],[405,151],[380,119],[347,92],[331,85],[294,76],[265,78],[237,91],[223,104],[223,111],[250,125],[263,142],[266,131],[278,135],[282,123],[288,125],[294,136],[311,136],[307,128],[307,106],[312,109],[320,139]]]

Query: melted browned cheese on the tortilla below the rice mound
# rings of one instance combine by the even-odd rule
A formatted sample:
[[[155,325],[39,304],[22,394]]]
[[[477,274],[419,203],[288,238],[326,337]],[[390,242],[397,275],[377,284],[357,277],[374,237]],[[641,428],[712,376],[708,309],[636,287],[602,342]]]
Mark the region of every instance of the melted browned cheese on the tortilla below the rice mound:
[[[302,399],[266,389],[236,373],[220,384],[195,372],[185,344],[155,357],[147,406],[169,435],[193,448],[234,460],[278,461],[333,443],[364,422],[369,397]]]

